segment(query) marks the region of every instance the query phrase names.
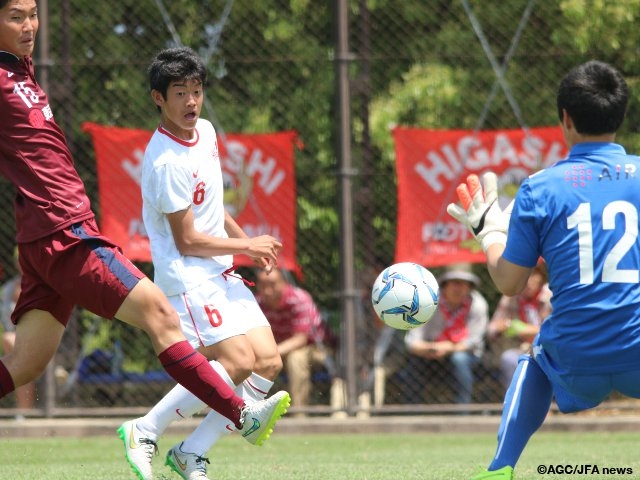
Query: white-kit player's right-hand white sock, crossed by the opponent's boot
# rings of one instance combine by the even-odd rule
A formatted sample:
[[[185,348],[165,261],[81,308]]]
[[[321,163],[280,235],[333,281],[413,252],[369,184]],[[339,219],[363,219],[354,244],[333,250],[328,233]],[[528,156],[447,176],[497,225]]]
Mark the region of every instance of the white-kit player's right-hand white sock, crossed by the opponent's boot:
[[[249,378],[235,388],[235,392],[247,403],[253,403],[263,400],[272,386],[272,381],[257,373],[251,373]],[[235,430],[229,419],[212,410],[185,439],[181,447],[182,451],[204,456],[220,438]]]

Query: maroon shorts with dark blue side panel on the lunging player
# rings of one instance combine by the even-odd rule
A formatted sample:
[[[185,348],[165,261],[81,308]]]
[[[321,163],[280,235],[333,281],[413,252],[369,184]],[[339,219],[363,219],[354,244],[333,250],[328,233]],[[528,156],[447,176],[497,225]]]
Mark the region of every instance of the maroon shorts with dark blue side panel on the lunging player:
[[[13,323],[30,310],[50,312],[67,325],[74,305],[113,318],[145,275],[102,236],[94,219],[18,245],[22,291]]]

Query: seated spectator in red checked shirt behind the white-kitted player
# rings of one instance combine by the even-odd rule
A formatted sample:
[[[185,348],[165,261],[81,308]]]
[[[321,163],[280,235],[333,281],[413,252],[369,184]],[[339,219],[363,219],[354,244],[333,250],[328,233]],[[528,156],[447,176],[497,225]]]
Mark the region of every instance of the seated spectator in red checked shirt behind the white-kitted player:
[[[333,365],[335,338],[309,292],[288,282],[282,270],[257,272],[256,298],[282,356],[291,406],[305,407],[313,367]]]

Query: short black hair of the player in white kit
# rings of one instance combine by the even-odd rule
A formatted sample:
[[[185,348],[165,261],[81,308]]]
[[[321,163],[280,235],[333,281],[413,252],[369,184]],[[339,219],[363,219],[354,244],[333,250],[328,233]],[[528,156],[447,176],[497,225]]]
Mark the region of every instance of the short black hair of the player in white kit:
[[[207,83],[204,62],[189,47],[160,51],[149,65],[148,73],[149,88],[160,92],[165,99],[169,85],[176,80],[200,80],[203,86]]]

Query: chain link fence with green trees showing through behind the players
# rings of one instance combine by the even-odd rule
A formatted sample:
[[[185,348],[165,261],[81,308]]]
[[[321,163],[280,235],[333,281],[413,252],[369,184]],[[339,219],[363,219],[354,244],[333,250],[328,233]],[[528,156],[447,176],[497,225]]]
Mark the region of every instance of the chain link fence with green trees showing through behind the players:
[[[338,47],[340,5],[346,6],[346,55]],[[597,58],[619,67],[629,80],[633,98],[619,139],[630,151],[640,146],[639,0],[47,0],[39,7],[36,71],[98,218],[96,159],[81,124],[153,130],[158,117],[146,68],[164,47],[188,45],[205,59],[210,84],[203,116],[221,134],[298,132],[301,285],[343,333],[342,305],[353,297],[344,283],[341,248],[349,225],[361,301],[355,309],[355,345],[343,343],[338,366],[342,376],[355,372],[357,378],[347,380],[356,385],[362,405],[382,410],[398,404],[408,388],[396,375],[407,362],[402,335],[381,329],[369,305],[373,279],[394,257],[390,129],[556,125],[559,79],[576,64]],[[346,108],[339,101],[337,75],[344,65]],[[341,168],[339,149],[345,121],[351,130],[349,171]],[[341,215],[345,178],[351,185],[351,218]],[[5,205],[12,202],[13,187],[4,180],[0,197]],[[9,208],[0,217],[0,265],[7,280],[16,273],[15,230]],[[150,265],[141,266],[152,273]],[[498,295],[485,269],[474,269],[485,280],[481,291],[493,309]],[[354,352],[346,348],[357,349],[358,365],[350,371],[345,358]],[[55,363],[45,376],[49,380],[38,382],[37,407],[48,411],[148,406],[172,386],[142,333],[81,309]],[[491,368],[478,370],[474,402],[501,401],[494,374]],[[432,379],[424,402],[452,403],[450,374],[433,372]],[[328,404],[321,387],[314,402]],[[0,406],[11,412],[13,396]]]

